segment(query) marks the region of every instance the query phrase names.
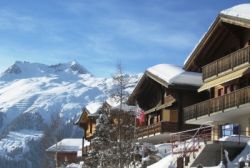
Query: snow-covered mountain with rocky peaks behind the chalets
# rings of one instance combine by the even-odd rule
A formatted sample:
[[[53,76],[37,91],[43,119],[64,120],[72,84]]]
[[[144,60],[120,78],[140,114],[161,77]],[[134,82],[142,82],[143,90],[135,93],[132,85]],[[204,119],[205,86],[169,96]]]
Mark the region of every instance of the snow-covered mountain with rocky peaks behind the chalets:
[[[128,92],[140,76],[127,75]],[[15,141],[11,131],[44,131],[42,125],[51,124],[55,114],[64,124],[73,122],[82,107],[106,100],[113,88],[112,78],[94,77],[75,61],[57,65],[18,61],[0,75],[0,144],[9,143],[9,137]],[[0,153],[4,150],[0,148]]]

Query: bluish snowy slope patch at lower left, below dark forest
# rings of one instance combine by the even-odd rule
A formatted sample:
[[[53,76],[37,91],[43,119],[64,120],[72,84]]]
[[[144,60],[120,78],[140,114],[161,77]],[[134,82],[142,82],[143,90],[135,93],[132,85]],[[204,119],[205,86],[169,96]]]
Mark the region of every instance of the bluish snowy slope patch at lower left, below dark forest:
[[[11,131],[5,138],[0,140],[0,156],[19,159],[23,154],[29,152],[28,143],[33,140],[39,140],[42,136],[43,133],[41,131]]]

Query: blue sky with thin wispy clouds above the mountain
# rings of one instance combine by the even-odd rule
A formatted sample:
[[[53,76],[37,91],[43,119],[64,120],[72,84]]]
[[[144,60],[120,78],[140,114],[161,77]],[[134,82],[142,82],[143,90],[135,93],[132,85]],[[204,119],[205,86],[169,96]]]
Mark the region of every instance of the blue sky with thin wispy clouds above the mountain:
[[[243,0],[0,0],[0,70],[78,61],[96,76],[183,65],[219,11]]]

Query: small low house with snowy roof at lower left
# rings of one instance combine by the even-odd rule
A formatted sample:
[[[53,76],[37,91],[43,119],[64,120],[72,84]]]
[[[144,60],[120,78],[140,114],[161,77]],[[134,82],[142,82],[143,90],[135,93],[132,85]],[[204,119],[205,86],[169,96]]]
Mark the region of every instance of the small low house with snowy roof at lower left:
[[[84,144],[85,146],[88,146],[89,142],[85,141]],[[76,163],[80,161],[81,150],[82,139],[71,138],[61,140],[60,142],[49,147],[46,152],[55,158],[56,167],[62,167],[70,163]]]

